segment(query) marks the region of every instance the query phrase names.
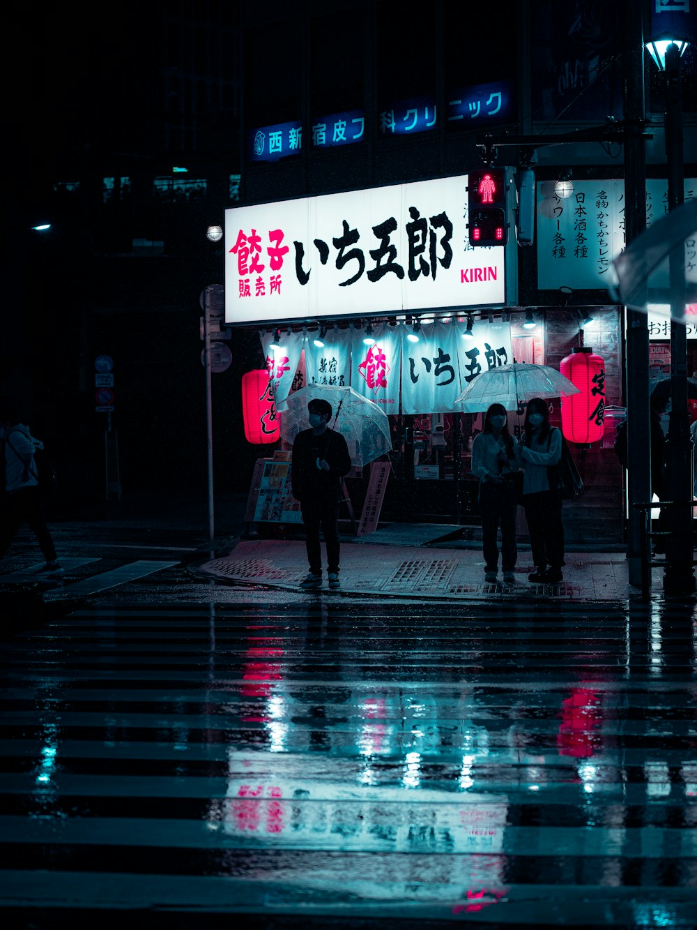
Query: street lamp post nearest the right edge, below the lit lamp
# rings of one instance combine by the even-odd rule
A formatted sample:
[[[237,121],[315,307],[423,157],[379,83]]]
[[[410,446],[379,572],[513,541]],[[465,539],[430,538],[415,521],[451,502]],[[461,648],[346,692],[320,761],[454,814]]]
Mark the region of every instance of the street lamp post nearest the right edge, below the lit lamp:
[[[682,135],[682,75],[675,43],[665,52],[665,155],[668,161],[668,209],[685,199]],[[680,246],[670,255],[670,419],[666,461],[668,497],[676,507],[668,512],[671,533],[666,540],[664,591],[695,590],[692,566],[692,441],[688,415],[688,339],[685,318],[685,253]]]

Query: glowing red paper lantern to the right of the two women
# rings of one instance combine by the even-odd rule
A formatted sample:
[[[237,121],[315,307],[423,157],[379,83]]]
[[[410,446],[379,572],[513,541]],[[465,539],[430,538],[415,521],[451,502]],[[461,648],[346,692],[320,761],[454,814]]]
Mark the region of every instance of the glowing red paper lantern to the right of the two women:
[[[561,374],[579,393],[561,398],[561,432],[570,443],[597,443],[605,431],[605,363],[592,349],[574,349]]]

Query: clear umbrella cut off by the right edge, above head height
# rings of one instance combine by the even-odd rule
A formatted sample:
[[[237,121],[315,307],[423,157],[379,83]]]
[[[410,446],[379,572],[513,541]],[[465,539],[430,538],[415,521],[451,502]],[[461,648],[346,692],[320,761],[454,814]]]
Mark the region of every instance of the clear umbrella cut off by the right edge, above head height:
[[[651,290],[659,295],[658,300],[651,299],[652,310],[671,315],[668,296],[671,256],[680,259],[685,269],[684,302],[697,302],[697,200],[688,200],[655,220],[613,260],[614,284],[609,288],[612,299],[634,310],[646,311]],[[681,322],[685,319],[682,314],[674,318]]]

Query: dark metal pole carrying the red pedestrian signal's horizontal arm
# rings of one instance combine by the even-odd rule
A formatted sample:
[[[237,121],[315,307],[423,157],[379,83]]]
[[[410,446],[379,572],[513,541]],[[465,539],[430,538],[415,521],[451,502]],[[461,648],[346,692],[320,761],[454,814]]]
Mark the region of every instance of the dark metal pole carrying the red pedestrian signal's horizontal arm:
[[[644,101],[644,35],[641,5],[625,0],[625,234],[626,244],[646,229],[646,145],[642,136]],[[627,567],[629,583],[646,589],[650,583],[644,515],[634,504],[651,500],[651,438],[649,413],[649,326],[646,313],[626,312],[627,406]]]

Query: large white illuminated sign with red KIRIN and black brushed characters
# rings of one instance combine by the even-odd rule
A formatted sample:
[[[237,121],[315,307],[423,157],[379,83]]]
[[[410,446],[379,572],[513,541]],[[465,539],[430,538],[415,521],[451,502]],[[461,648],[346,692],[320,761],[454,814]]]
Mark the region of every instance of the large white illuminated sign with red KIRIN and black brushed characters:
[[[506,303],[503,246],[467,243],[467,176],[225,211],[227,323]]]

